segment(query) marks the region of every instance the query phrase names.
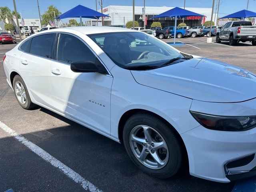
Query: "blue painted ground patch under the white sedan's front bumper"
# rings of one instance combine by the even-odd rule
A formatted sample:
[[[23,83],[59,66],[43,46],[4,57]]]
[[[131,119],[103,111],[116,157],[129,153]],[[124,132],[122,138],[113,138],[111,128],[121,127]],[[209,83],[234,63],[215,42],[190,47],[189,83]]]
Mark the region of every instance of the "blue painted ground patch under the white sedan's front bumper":
[[[232,192],[256,192],[256,177],[237,181]]]

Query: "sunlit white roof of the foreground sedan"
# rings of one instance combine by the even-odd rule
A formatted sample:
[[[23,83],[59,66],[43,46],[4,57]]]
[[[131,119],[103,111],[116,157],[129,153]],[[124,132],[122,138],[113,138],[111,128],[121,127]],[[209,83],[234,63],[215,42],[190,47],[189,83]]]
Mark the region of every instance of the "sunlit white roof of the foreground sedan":
[[[120,27],[80,26],[80,27],[56,28],[56,29],[51,29],[50,31],[42,31],[40,33],[42,34],[42,33],[46,33],[46,32],[72,32],[72,31],[77,31],[77,32],[80,32],[80,33],[83,33],[86,35],[87,34],[109,33],[109,32],[131,32],[130,29],[120,28]],[[36,34],[38,34],[38,33],[36,33]]]

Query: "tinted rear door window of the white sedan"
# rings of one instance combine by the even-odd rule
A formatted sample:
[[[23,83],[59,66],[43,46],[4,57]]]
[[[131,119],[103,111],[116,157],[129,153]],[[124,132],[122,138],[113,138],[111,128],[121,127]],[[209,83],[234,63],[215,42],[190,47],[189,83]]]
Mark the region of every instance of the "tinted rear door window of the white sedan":
[[[56,34],[52,33],[34,37],[31,41],[30,53],[41,57],[51,58],[52,44],[55,36]]]

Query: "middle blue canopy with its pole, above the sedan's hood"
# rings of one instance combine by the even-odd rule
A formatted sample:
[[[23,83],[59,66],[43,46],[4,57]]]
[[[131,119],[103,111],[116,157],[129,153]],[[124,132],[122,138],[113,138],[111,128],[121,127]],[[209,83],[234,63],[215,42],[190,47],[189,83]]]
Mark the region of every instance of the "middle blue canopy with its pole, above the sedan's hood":
[[[204,17],[201,14],[192,12],[192,11],[188,11],[186,9],[182,9],[179,7],[175,7],[173,9],[170,9],[166,12],[163,12],[159,15],[156,15],[154,17],[152,17],[151,19],[155,19],[155,18],[161,18],[161,17],[175,17],[175,28],[174,28],[174,44],[176,42],[176,27],[177,27],[177,17],[179,18],[184,18],[184,17],[189,17],[189,16],[201,16]]]

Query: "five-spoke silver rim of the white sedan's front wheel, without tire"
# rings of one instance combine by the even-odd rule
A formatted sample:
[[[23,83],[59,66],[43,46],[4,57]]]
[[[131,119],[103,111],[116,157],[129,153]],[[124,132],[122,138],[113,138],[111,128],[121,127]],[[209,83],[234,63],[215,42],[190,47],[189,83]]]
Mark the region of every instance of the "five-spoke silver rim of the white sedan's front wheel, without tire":
[[[152,127],[138,125],[130,133],[130,147],[134,156],[146,167],[163,168],[169,159],[164,138]]]

